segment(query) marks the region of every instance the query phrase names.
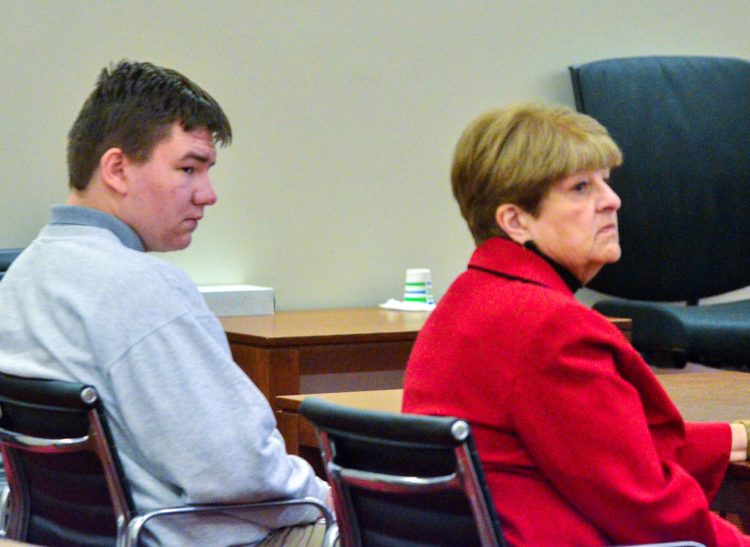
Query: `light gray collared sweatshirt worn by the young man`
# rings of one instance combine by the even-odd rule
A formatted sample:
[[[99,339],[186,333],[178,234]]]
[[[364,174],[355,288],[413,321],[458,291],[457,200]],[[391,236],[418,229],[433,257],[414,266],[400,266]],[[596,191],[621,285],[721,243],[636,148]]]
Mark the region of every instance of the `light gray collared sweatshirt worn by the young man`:
[[[138,510],[325,499],[193,282],[118,219],[54,207],[0,282],[0,310],[0,370],[96,387]],[[288,509],[151,528],[154,543],[236,545],[314,517]]]

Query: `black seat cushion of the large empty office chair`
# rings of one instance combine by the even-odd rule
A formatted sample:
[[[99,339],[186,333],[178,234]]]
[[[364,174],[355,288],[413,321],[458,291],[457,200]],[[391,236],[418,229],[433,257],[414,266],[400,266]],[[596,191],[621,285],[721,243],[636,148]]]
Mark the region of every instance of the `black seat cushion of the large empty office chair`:
[[[674,351],[688,361],[750,364],[750,300],[678,306],[643,300],[606,299],[594,309],[633,320],[633,346],[642,353]]]

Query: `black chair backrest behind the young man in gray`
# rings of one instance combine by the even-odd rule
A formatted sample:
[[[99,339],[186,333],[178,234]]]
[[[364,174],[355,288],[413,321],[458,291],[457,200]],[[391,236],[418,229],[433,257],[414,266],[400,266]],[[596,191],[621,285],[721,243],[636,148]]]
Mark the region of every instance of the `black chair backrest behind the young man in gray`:
[[[0,373],[0,411],[7,537],[115,545],[134,506],[96,390]]]

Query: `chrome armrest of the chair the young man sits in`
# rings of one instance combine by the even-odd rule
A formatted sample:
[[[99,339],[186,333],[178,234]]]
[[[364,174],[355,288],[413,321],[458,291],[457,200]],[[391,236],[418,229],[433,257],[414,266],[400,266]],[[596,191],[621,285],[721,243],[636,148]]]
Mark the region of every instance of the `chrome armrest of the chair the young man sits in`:
[[[216,513],[222,511],[231,511],[238,509],[269,509],[273,507],[290,507],[295,505],[312,505],[318,511],[325,520],[325,536],[323,538],[323,546],[334,545],[338,537],[338,528],[333,523],[333,515],[328,507],[324,503],[318,501],[315,498],[305,498],[296,500],[272,500],[272,501],[261,501],[253,503],[212,503],[205,505],[184,505],[181,507],[165,507],[163,509],[155,509],[142,515],[136,515],[127,526],[120,533],[118,538],[118,547],[136,547],[140,539],[141,532],[146,522],[151,519],[171,516],[171,515],[184,515],[188,513]]]

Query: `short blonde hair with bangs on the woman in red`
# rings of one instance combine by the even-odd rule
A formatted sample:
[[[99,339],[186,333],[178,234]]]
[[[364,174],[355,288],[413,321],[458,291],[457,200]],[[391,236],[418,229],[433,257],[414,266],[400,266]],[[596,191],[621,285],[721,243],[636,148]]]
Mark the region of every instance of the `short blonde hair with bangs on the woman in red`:
[[[469,124],[456,144],[451,183],[479,245],[507,237],[495,221],[503,203],[537,215],[553,183],[621,163],[622,152],[594,118],[526,103],[491,110]]]

